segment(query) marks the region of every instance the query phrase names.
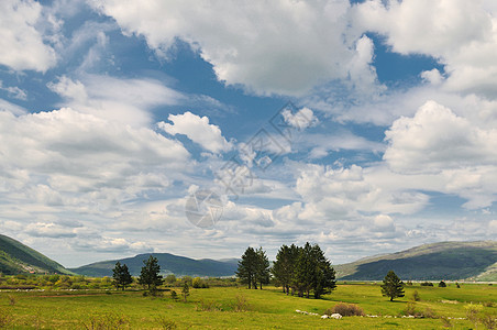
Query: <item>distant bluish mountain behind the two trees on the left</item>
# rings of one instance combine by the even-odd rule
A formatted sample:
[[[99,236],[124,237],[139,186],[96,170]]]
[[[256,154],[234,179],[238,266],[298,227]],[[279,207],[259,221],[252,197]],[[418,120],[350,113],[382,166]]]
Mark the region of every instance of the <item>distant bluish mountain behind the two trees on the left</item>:
[[[150,255],[157,258],[161,265],[161,273],[189,276],[233,276],[238,268],[238,260],[230,258],[224,261],[216,261],[210,258],[194,260],[185,256],[178,256],[170,253],[148,253],[139,254],[133,257],[112,260],[92,263],[78,268],[70,268],[74,273],[86,276],[112,276],[112,268],[119,261],[126,264],[131,275],[139,276],[142,271],[143,261]]]

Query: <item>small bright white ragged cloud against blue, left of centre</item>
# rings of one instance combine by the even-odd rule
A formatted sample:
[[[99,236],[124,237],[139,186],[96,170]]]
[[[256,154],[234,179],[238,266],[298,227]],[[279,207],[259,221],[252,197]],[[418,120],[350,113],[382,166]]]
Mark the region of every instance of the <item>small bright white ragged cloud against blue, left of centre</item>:
[[[187,111],[183,114],[169,114],[168,120],[173,124],[163,121],[157,123],[158,128],[168,134],[185,134],[195,143],[213,153],[228,152],[233,147],[232,143],[222,136],[219,127],[210,124],[207,117],[199,117]]]

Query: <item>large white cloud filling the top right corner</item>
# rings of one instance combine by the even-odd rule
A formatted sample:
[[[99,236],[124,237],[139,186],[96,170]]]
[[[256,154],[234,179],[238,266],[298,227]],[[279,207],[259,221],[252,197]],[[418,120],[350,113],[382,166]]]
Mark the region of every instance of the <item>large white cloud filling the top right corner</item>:
[[[391,51],[437,58],[449,90],[495,99],[497,18],[492,1],[369,0],[354,7],[357,28],[383,34]]]

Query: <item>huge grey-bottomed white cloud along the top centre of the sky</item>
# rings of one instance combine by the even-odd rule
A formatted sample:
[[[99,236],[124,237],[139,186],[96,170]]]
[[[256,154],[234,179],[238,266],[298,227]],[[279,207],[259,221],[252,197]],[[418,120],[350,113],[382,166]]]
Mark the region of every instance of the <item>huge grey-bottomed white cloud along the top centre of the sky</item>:
[[[90,3],[163,55],[176,38],[189,43],[219,80],[256,94],[302,95],[333,79],[363,84],[371,76],[367,37],[356,47],[362,35],[350,29],[347,0]]]

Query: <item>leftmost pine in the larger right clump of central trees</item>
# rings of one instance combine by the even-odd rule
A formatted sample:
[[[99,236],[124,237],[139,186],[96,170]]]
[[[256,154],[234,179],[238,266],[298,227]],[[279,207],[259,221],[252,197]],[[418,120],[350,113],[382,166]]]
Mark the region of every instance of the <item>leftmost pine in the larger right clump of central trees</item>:
[[[295,244],[290,246],[283,245],[279,248],[276,261],[270,270],[276,282],[283,286],[283,292],[287,295],[290,293],[291,279],[295,273],[295,263],[299,254],[299,248]]]

